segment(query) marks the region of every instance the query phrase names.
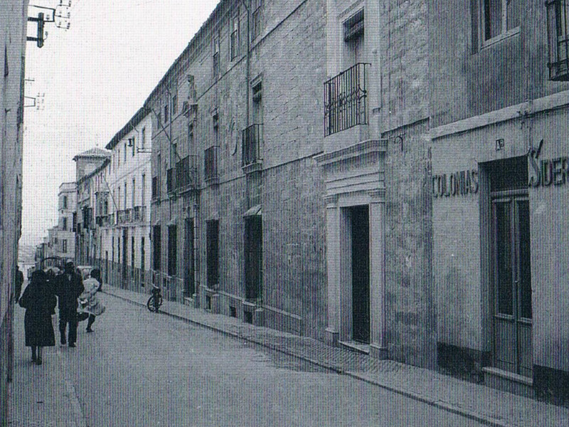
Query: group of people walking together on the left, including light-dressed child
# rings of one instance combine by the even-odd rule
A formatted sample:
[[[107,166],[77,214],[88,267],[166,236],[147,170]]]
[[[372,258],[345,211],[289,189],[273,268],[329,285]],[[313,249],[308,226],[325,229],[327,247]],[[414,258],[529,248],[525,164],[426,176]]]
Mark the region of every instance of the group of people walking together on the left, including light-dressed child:
[[[18,277],[16,276],[17,282]],[[16,288],[21,288],[21,283]],[[23,325],[26,347],[31,347],[32,362],[42,364],[43,347],[55,346],[51,316],[55,315],[56,305],[59,307],[61,345],[75,347],[80,320],[88,319],[87,332],[92,332],[95,316],[105,311],[105,307],[95,295],[99,289],[100,270],[92,269],[90,278],[83,282],[80,273],[75,271],[73,261],[65,263],[65,269],[59,275],[53,272],[48,274],[43,270],[33,271],[30,283],[18,301],[18,304],[26,309]],[[16,297],[18,296],[19,290],[16,289]]]

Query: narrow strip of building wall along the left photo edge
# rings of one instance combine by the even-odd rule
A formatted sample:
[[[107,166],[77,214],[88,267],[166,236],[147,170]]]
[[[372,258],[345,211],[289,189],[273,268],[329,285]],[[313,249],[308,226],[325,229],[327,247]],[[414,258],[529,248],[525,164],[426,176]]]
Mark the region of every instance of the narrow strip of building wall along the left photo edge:
[[[0,3],[0,426],[8,420],[14,278],[21,236],[23,81],[28,1]]]

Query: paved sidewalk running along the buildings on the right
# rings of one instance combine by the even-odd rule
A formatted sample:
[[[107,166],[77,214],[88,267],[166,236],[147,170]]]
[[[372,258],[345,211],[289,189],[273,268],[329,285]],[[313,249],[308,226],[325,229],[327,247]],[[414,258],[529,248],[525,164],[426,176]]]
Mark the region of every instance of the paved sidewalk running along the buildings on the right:
[[[149,295],[103,285],[103,292],[146,307]],[[329,347],[312,338],[255,327],[234,317],[213,315],[179,302],[164,301],[162,314],[245,339],[403,394],[489,426],[568,426],[569,409],[528,399],[429,369]]]

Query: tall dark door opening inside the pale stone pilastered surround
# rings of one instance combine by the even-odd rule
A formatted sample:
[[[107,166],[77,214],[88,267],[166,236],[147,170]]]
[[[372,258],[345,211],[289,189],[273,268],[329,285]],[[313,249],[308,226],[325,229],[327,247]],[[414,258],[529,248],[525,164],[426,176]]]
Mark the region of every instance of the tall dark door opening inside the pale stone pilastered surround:
[[[351,214],[352,337],[370,342],[369,315],[369,213],[368,206],[354,206]]]

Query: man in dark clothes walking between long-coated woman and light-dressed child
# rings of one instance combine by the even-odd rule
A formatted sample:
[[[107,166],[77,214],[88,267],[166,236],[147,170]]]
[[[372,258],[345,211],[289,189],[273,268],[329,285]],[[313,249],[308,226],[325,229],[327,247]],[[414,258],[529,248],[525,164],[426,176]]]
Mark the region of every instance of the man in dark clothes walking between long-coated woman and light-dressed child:
[[[77,299],[85,290],[81,276],[75,273],[73,261],[65,263],[65,270],[58,276],[57,295],[59,305],[59,333],[60,342],[65,345],[69,341],[69,347],[75,347],[77,341]],[[65,339],[65,330],[69,324],[68,339]]]

